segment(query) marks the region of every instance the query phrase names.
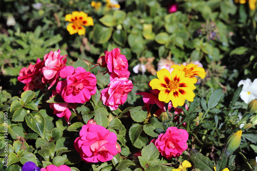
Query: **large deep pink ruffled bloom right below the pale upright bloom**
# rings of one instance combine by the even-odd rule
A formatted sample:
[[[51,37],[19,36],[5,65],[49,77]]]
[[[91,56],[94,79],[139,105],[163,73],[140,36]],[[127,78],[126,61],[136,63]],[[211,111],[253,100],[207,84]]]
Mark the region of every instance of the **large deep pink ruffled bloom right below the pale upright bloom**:
[[[60,77],[66,80],[58,82],[56,91],[67,103],[85,103],[96,93],[96,76],[82,67],[66,66]]]

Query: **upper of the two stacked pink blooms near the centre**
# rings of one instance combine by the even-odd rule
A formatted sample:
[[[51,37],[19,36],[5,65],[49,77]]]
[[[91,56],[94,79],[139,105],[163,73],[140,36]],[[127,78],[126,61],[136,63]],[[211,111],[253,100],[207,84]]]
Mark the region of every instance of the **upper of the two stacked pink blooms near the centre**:
[[[107,64],[108,73],[110,78],[128,78],[130,77],[130,71],[127,70],[128,64],[126,56],[120,54],[120,49],[115,48],[111,52],[105,51],[105,63]],[[100,61],[103,61],[103,56],[100,57]],[[99,61],[99,60],[98,60]],[[104,62],[99,62],[104,67]]]

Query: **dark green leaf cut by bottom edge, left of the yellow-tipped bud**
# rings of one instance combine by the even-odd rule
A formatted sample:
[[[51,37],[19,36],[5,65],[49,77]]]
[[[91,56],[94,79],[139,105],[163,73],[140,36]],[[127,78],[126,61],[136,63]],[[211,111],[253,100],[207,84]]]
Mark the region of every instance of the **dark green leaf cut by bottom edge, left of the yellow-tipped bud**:
[[[205,171],[213,171],[213,164],[208,157],[205,157],[196,149],[189,149],[189,159],[194,163],[195,168]]]

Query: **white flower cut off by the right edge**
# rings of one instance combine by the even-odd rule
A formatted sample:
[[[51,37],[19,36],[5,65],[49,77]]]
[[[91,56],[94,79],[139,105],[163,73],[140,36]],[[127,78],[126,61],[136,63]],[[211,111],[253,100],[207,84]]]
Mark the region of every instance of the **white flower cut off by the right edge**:
[[[250,79],[241,80],[237,86],[239,87],[242,84],[243,89],[240,93],[240,98],[247,104],[253,99],[257,99],[257,79],[254,79],[253,82]]]

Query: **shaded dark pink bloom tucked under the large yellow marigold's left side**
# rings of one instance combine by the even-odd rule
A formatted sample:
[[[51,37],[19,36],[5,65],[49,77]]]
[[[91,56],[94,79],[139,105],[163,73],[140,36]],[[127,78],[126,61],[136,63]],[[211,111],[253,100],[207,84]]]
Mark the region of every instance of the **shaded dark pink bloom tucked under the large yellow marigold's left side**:
[[[153,90],[150,90],[150,91],[151,91],[151,93],[149,93],[149,92],[138,92],[136,94],[139,94],[139,95],[143,96],[144,107],[146,108],[147,111],[150,111],[150,108],[152,108],[152,106],[150,107],[149,105],[157,104],[159,109],[157,109],[157,111],[155,111],[154,113],[155,113],[155,115],[160,116],[162,112],[166,111],[165,103],[159,101],[159,99],[158,99],[160,90],[153,89]]]

